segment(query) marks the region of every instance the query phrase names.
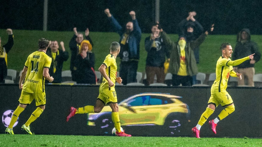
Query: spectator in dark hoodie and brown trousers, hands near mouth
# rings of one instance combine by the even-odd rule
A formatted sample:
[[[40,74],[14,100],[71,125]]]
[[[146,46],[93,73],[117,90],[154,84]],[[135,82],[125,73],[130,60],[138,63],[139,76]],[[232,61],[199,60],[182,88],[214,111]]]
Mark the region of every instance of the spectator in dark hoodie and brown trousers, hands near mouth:
[[[145,39],[145,49],[147,51],[146,74],[147,84],[154,82],[157,75],[157,83],[164,83],[164,62],[166,57],[169,60],[169,50],[164,44],[162,34],[165,33],[159,23],[154,23],[151,28],[151,35]]]

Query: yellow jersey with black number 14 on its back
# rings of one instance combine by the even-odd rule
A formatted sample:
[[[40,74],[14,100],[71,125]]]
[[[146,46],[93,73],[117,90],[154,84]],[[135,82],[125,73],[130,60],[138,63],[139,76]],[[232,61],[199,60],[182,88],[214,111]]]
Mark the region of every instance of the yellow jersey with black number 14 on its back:
[[[43,51],[36,51],[27,57],[27,73],[23,90],[29,93],[45,92],[44,68],[50,68],[52,58]]]

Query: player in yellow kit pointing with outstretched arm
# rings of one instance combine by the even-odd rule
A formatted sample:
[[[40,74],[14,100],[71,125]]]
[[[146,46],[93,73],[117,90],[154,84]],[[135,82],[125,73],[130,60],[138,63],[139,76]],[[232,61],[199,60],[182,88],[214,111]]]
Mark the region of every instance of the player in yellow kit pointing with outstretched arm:
[[[208,106],[205,112],[203,112],[203,114],[201,115],[198,124],[194,128],[192,128],[192,132],[195,134],[197,138],[200,138],[199,130],[201,126],[204,125],[206,120],[215,111],[215,108],[219,104],[221,104],[222,107],[226,107],[226,108],[220,112],[218,117],[209,121],[209,125],[211,126],[211,129],[215,134],[216,134],[215,128],[217,123],[235,111],[233,100],[229,95],[229,93],[226,91],[229,75],[242,79],[241,78],[242,74],[234,72],[233,66],[239,65],[242,62],[249,59],[253,60],[253,55],[255,55],[252,54],[245,58],[231,61],[231,59],[229,58],[233,53],[231,44],[222,43],[222,45],[220,46],[220,50],[222,52],[222,56],[217,60],[216,63],[216,69],[215,69],[216,79],[211,87],[211,96],[208,101]]]

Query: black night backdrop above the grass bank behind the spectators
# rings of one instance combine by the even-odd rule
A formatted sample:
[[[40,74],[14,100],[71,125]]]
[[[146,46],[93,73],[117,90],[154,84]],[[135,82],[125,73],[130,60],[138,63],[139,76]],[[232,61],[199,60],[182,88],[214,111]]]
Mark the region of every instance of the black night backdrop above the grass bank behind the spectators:
[[[0,28],[43,30],[43,0],[2,0]],[[250,28],[251,34],[262,34],[259,0],[160,0],[160,24],[167,33],[177,34],[178,23],[195,11],[204,28],[215,24],[214,34],[236,34]],[[48,31],[111,31],[105,8],[124,26],[136,12],[143,33],[150,32],[155,18],[155,0],[49,0]]]

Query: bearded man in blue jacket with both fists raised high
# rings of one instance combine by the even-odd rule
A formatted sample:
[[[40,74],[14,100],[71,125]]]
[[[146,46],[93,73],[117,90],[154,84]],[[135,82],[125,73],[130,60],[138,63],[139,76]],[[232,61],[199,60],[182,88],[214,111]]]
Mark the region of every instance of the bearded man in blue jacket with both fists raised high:
[[[120,35],[121,52],[119,57],[121,60],[119,76],[123,79],[123,85],[127,83],[137,82],[136,71],[138,68],[141,29],[136,19],[134,11],[129,12],[132,21],[127,22],[126,27],[123,28],[117,20],[110,13],[109,9],[105,9],[110,25],[114,31]]]

